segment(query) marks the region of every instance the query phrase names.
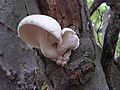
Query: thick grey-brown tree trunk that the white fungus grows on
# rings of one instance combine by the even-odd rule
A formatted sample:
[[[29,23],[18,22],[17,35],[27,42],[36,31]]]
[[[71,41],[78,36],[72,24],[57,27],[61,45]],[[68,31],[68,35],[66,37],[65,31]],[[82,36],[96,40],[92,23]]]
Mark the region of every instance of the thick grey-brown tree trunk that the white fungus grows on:
[[[80,45],[67,66],[58,66],[40,50],[29,49],[17,36],[18,23],[31,14],[49,15],[62,28],[77,33]],[[44,82],[48,90],[109,90],[85,0],[2,0],[0,47],[0,90],[41,90]]]

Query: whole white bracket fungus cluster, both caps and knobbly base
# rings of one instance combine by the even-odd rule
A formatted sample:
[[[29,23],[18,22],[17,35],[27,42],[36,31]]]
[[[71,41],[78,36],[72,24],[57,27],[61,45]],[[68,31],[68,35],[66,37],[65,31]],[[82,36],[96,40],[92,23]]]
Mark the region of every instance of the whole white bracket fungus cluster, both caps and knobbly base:
[[[42,54],[58,65],[66,65],[71,50],[79,46],[79,38],[70,28],[61,30],[59,23],[46,15],[30,15],[18,25],[18,35],[29,46],[41,49]]]

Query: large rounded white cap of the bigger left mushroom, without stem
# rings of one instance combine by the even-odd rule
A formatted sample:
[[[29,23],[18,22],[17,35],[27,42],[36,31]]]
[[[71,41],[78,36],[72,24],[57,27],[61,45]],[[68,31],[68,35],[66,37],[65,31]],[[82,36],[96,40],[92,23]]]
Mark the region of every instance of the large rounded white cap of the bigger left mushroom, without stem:
[[[30,15],[25,17],[18,25],[18,35],[32,47],[40,48],[39,39],[47,33],[52,43],[61,44],[61,27],[59,23],[45,15]]]

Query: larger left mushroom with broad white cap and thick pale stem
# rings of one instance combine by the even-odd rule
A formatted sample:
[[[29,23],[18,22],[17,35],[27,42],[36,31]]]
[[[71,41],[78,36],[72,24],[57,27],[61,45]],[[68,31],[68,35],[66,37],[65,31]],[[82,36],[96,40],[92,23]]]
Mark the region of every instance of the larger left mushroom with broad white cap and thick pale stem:
[[[18,25],[18,35],[31,47],[41,49],[43,55],[51,60],[59,56],[57,47],[62,43],[59,23],[45,15],[30,15]]]

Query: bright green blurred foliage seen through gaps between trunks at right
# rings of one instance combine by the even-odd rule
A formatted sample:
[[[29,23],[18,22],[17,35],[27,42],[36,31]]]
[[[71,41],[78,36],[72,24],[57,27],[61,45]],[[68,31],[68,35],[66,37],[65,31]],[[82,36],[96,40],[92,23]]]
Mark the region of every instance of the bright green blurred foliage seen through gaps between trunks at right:
[[[88,7],[92,5],[94,0],[87,0]],[[108,10],[109,7],[103,3],[91,16],[92,20],[92,25],[93,25],[93,30],[94,30],[94,36],[97,44],[102,47],[102,31],[101,28],[103,26],[103,12]],[[120,56],[120,34],[119,34],[119,39],[117,42],[117,47],[116,47],[116,57]]]

